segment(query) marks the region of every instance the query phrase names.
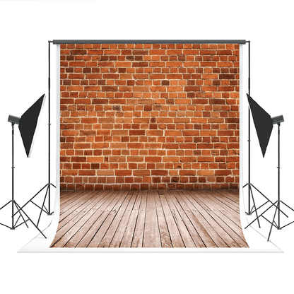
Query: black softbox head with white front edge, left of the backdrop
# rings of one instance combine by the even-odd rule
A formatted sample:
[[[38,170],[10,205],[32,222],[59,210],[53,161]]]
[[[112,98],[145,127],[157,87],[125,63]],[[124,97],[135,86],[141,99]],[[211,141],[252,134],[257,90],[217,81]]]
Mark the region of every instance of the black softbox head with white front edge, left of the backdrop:
[[[33,147],[35,131],[37,122],[40,117],[42,105],[45,101],[45,94],[43,94],[21,117],[18,125],[20,136],[23,139],[23,146],[25,153],[30,157],[30,152]]]

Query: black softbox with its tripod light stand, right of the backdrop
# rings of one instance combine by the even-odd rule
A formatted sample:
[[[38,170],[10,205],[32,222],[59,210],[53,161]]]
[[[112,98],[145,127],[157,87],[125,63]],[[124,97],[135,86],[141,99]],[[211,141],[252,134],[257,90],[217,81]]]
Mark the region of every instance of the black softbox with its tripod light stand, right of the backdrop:
[[[267,114],[249,95],[248,96],[248,100],[249,100],[249,105],[252,109],[252,111],[255,112],[255,114],[253,115],[253,117],[255,118],[254,120],[254,124],[255,127],[257,129],[257,135],[259,137],[259,143],[261,146],[261,151],[263,153],[263,155],[265,154],[266,151],[266,146],[269,143],[269,138],[271,136],[271,130],[273,129],[274,124],[278,124],[278,200],[276,202],[272,202],[268,199],[268,201],[266,201],[266,203],[271,202],[271,206],[269,206],[269,208],[267,208],[263,213],[261,213],[259,216],[257,216],[257,218],[255,218],[251,223],[249,223],[249,225],[251,225],[252,223],[254,223],[255,220],[259,220],[259,218],[262,216],[265,220],[267,220],[269,223],[271,223],[271,229],[269,231],[269,237],[271,236],[271,230],[273,228],[273,226],[275,228],[277,228],[278,230],[281,230],[282,228],[285,228],[287,225],[290,225],[291,223],[294,223],[294,221],[283,225],[281,227],[281,213],[283,213],[283,211],[281,211],[281,204],[284,204],[285,206],[287,206],[288,208],[290,208],[290,206],[288,206],[287,204],[285,204],[283,201],[281,201],[281,197],[280,197],[280,169],[281,169],[281,165],[280,165],[280,126],[281,126],[281,122],[284,122],[283,119],[283,115],[279,115],[278,117],[270,117],[269,114]],[[266,203],[264,203],[261,206],[264,206]],[[261,206],[259,206],[259,208],[261,208]],[[264,217],[264,213],[266,213],[266,211],[269,211],[269,209],[271,207],[275,206],[276,210],[274,213],[274,218],[272,221],[268,220],[267,218]],[[259,209],[257,208],[257,209]],[[293,208],[290,208],[292,211]],[[276,213],[278,212],[278,224],[276,223],[275,219],[276,219]],[[288,218],[288,216],[286,215],[286,213],[283,213],[284,216],[286,216]],[[249,227],[249,225],[247,225],[246,228]],[[268,237],[268,241],[269,241],[269,237]]]

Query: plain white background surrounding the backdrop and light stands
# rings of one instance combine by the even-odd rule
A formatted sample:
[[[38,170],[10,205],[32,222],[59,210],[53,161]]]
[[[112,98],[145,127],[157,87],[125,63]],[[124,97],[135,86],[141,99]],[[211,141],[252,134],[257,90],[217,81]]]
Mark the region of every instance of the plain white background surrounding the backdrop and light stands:
[[[281,124],[281,196],[294,207],[291,2],[0,1],[0,206],[11,199],[8,114],[20,117],[43,93],[47,95],[48,40],[246,39],[251,41],[252,98],[272,117],[283,114],[285,118]],[[243,51],[245,97],[247,46]],[[52,45],[53,134],[55,52],[56,47]],[[245,100],[245,111],[246,108]],[[31,158],[26,158],[18,127],[15,128],[15,195],[19,204],[24,204],[47,183],[47,111],[46,104]],[[247,116],[245,111],[243,115]],[[243,137],[245,151],[246,124],[247,120]],[[275,127],[263,159],[252,128],[252,182],[274,201],[276,142]],[[247,157],[243,160],[246,167]],[[244,171],[244,182],[247,182]],[[54,174],[52,182],[55,182]],[[4,210],[0,211],[0,222],[7,223],[9,218]],[[43,218],[46,226],[49,217]],[[33,225],[29,229],[21,225],[14,231],[1,226],[0,288],[1,293],[17,290],[18,293],[290,293],[293,233],[294,225],[273,230],[271,241],[283,249],[283,254],[18,254],[37,235],[37,230]]]

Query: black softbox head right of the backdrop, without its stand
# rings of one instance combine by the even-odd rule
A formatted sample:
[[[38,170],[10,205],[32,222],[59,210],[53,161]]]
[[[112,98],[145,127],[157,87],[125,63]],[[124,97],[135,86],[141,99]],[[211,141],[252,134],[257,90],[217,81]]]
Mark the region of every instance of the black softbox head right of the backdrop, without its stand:
[[[273,121],[271,119],[271,116],[262,107],[260,107],[257,102],[255,102],[248,94],[247,98],[252,112],[255,129],[257,130],[261,152],[264,156],[266,153],[266,148],[269,144],[269,138],[271,137]]]

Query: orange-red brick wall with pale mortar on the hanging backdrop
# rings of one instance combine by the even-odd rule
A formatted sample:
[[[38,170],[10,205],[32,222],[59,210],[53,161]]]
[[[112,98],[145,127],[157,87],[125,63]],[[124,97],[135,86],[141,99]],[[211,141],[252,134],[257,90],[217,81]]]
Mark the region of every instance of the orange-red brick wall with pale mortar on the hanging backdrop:
[[[61,45],[61,189],[239,187],[239,45]]]

